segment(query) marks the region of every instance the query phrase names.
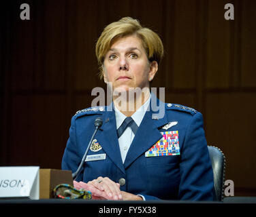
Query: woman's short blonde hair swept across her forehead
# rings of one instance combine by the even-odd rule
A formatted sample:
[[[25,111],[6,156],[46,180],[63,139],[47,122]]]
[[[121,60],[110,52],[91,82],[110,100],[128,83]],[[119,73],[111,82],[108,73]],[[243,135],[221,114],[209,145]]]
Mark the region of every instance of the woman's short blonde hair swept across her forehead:
[[[163,43],[159,35],[149,28],[142,27],[138,20],[125,17],[106,26],[96,43],[95,52],[101,79],[103,78],[103,62],[111,45],[116,39],[129,35],[136,35],[142,40],[142,45],[150,62],[154,60],[158,64],[161,62],[163,58]]]

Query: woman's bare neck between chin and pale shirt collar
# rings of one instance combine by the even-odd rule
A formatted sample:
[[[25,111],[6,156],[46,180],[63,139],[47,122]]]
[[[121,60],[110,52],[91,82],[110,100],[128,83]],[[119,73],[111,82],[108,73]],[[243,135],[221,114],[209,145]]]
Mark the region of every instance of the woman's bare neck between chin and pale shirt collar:
[[[131,117],[148,100],[150,91],[147,88],[143,92],[122,92],[113,96],[114,106],[125,116]]]

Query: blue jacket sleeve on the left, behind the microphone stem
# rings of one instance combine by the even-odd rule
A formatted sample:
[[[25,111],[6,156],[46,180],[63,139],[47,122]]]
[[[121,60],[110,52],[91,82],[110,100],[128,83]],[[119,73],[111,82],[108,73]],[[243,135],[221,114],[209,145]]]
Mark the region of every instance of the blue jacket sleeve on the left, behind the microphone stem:
[[[67,140],[67,146],[64,151],[61,168],[62,170],[71,170],[71,172],[74,173],[78,169],[80,161],[81,158],[78,155],[78,147],[76,142],[76,119],[74,116],[71,119],[71,126],[69,128],[69,138]],[[81,180],[81,173],[80,176],[76,180]]]

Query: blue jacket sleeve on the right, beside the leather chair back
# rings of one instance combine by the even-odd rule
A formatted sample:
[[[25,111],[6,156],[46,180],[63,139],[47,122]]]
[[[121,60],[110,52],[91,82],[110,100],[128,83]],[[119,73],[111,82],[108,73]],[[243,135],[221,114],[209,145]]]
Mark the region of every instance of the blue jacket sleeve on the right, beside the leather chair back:
[[[193,115],[180,150],[178,199],[212,201],[214,181],[201,113]]]

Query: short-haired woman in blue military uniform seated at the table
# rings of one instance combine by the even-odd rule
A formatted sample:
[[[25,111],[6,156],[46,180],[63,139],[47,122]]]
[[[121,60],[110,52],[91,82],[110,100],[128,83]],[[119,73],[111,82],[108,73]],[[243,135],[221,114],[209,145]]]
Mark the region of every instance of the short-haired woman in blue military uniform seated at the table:
[[[93,199],[213,200],[202,114],[150,92],[163,58],[159,36],[138,20],[122,18],[104,28],[96,56],[112,104],[78,111],[71,119],[62,168],[72,172],[95,119],[103,120],[74,186],[91,191]]]

